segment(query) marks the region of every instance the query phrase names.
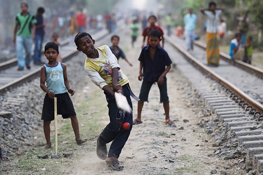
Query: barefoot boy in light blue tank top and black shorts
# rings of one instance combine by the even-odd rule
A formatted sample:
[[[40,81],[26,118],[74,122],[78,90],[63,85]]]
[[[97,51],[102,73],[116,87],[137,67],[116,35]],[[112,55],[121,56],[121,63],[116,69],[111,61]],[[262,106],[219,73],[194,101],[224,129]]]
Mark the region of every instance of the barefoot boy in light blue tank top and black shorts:
[[[68,93],[74,95],[75,91],[70,88],[67,68],[64,63],[58,62],[58,45],[49,42],[45,46],[45,56],[49,62],[41,67],[40,87],[46,92],[42,109],[41,120],[44,120],[44,134],[46,137],[46,145],[44,148],[51,148],[50,141],[50,123],[54,120],[54,97],[57,97],[57,112],[63,118],[70,118],[72,128],[75,133],[77,144],[87,141],[82,140],[79,136],[79,123],[73,107],[73,103]],[[46,85],[45,85],[46,82]],[[68,91],[68,93],[67,93]]]

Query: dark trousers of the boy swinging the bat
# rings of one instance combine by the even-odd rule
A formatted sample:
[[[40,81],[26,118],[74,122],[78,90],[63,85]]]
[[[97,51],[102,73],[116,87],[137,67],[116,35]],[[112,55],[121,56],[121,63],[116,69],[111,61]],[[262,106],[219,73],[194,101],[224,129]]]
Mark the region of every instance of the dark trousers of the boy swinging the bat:
[[[130,107],[132,108],[128,85],[126,84],[122,86],[122,90],[124,93],[123,95],[127,98],[127,101]],[[101,132],[99,136],[99,141],[101,144],[106,144],[112,141],[108,152],[108,157],[114,156],[119,158],[122,148],[124,147],[126,141],[128,140],[131,132],[132,121],[133,121],[132,112],[129,114],[119,110],[115,98],[108,93],[104,92],[104,94],[108,102],[110,123]],[[122,124],[125,122],[129,122],[130,128],[123,129],[116,118],[120,118]]]

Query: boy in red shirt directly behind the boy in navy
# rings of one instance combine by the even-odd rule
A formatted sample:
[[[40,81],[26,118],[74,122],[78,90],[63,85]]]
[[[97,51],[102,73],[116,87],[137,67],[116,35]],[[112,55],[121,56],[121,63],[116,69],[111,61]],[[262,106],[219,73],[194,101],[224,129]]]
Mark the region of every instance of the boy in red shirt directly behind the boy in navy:
[[[155,15],[150,15],[149,17],[148,17],[148,22],[150,23],[150,25],[149,26],[147,26],[145,29],[143,29],[143,45],[141,46],[141,48],[143,48],[145,45],[144,45],[144,43],[145,43],[145,38],[146,38],[146,36],[147,36],[147,45],[149,45],[150,43],[149,43],[149,33],[150,33],[150,31],[152,31],[152,30],[158,30],[158,31],[160,31],[160,33],[161,33],[161,36],[162,36],[162,48],[164,47],[164,37],[163,37],[163,31],[162,31],[162,29],[161,29],[161,27],[160,26],[157,26],[157,25],[155,25],[155,22],[157,22],[157,17],[155,16]],[[159,45],[160,45],[160,43],[159,43]]]

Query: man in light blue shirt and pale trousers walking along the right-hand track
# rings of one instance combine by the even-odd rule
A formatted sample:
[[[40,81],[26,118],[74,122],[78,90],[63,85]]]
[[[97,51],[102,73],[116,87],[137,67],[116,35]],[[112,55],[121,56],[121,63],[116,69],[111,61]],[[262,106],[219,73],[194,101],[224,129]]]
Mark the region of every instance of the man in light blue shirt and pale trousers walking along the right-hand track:
[[[193,40],[195,35],[196,15],[192,14],[192,11],[192,8],[189,8],[188,13],[184,15],[184,31],[187,51],[193,50]]]

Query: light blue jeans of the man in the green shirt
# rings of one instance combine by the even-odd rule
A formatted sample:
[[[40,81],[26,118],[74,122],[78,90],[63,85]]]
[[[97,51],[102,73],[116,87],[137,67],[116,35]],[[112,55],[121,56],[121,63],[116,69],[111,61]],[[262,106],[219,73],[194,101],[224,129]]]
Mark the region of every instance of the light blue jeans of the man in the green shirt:
[[[24,36],[17,35],[15,48],[16,48],[18,67],[24,68],[25,65],[29,66],[31,62],[32,38],[27,38]],[[23,48],[25,48],[25,58],[24,58]]]

